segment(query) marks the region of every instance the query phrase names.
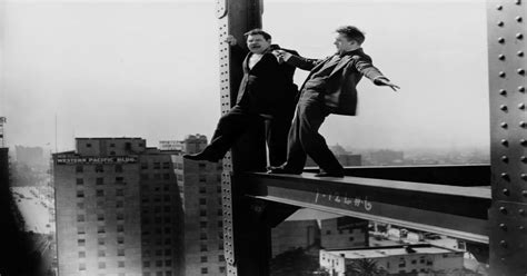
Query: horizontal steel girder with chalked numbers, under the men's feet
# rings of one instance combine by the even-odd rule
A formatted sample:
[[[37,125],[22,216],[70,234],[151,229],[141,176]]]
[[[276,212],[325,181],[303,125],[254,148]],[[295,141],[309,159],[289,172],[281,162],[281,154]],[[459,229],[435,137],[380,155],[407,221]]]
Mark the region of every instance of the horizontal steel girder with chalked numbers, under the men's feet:
[[[488,244],[488,187],[245,174],[247,196]]]

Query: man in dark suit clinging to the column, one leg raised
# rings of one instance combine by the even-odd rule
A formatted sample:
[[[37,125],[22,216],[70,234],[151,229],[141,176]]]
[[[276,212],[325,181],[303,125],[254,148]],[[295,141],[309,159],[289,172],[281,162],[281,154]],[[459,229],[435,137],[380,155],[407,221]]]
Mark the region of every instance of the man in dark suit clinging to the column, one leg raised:
[[[246,36],[249,53],[242,62],[243,78],[236,106],[220,118],[210,145],[199,154],[183,155],[187,159],[216,162],[223,158],[249,126],[266,120],[270,165],[279,166],[286,161],[287,134],[298,93],[292,82],[295,67],[279,62],[271,53],[271,48],[277,46],[271,47],[269,33],[255,29]],[[236,45],[232,37],[227,42]]]

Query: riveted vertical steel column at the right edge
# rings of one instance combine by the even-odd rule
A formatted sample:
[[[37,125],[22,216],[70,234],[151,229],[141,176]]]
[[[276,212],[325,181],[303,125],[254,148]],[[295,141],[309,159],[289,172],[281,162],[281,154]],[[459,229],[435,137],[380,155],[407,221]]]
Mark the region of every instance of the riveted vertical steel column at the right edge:
[[[488,1],[491,275],[527,274],[525,0]]]

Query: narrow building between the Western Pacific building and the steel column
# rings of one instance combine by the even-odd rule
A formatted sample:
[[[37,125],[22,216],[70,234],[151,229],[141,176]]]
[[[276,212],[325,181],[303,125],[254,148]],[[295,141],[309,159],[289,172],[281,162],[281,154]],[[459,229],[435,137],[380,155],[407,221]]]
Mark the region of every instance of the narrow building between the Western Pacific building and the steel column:
[[[207,137],[188,136],[183,152],[195,154],[207,146]],[[225,275],[221,162],[193,161],[181,155],[176,164],[185,213],[185,265],[187,276]]]

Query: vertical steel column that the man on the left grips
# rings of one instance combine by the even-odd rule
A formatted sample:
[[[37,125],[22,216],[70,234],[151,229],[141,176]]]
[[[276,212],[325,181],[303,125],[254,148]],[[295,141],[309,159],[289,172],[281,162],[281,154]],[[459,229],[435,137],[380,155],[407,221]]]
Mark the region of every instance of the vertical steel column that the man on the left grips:
[[[261,2],[217,0],[216,3],[219,19],[221,114],[225,115],[235,105],[245,58],[242,52],[231,51],[225,39],[232,34],[239,46],[246,47],[243,33],[261,28]],[[256,216],[257,207],[245,197],[248,185],[238,177],[241,171],[261,171],[265,167],[264,124],[257,124],[223,158],[223,248],[229,276],[268,275],[270,228]]]

